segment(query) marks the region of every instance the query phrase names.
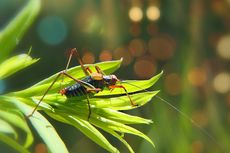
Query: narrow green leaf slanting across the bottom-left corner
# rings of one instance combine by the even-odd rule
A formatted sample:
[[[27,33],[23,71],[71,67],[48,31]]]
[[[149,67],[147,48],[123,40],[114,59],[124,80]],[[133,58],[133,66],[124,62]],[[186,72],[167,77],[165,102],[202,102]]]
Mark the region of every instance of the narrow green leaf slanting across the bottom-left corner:
[[[20,153],[29,153],[27,149],[25,149],[23,146],[18,144],[17,141],[12,139],[11,137],[0,133],[0,141],[4,142],[5,144],[11,146],[13,149],[17,150]]]

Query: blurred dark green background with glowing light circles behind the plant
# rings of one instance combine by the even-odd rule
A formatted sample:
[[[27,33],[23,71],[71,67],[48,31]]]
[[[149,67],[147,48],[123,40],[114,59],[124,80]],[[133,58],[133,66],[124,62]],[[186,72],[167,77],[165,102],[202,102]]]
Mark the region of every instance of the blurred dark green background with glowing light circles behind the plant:
[[[0,28],[26,0],[0,0]],[[230,150],[230,0],[44,0],[39,17],[13,54],[31,46],[39,63],[0,82],[0,93],[20,90],[62,70],[67,50],[76,47],[84,63],[124,58],[121,79],[163,77],[152,88],[163,101],[127,113],[154,121],[135,126],[141,138],[126,135],[136,152],[222,153]],[[77,61],[72,66],[78,65]],[[50,119],[51,120],[51,119]],[[73,152],[106,152],[75,128],[51,120]],[[106,135],[106,133],[105,133]],[[209,135],[209,136],[208,136]],[[109,141],[126,148],[115,138]],[[39,139],[32,151],[46,152]]]

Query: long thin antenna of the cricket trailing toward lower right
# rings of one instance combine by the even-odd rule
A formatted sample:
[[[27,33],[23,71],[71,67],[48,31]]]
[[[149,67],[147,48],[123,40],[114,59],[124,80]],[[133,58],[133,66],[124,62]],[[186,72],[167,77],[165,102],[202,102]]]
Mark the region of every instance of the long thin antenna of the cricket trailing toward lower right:
[[[121,80],[121,83],[126,83],[129,84],[133,87],[139,88],[142,91],[146,91],[146,92],[150,92],[147,89],[143,89],[135,84],[132,84],[130,82],[127,82],[125,80]],[[224,150],[223,147],[220,145],[220,143],[216,140],[216,138],[211,135],[207,130],[205,130],[200,124],[198,124],[195,120],[193,120],[191,117],[189,117],[186,113],[182,112],[180,109],[178,109],[176,106],[174,106],[173,104],[171,104],[169,101],[161,98],[160,96],[155,96],[156,98],[158,98],[160,101],[164,102],[165,104],[167,104],[168,106],[170,106],[171,108],[173,108],[176,112],[178,112],[181,116],[183,116],[185,119],[187,119],[188,121],[190,121],[190,123],[192,123],[196,128],[198,128],[201,133],[203,133],[204,135],[206,135],[208,138],[210,138],[210,140],[212,140],[212,142],[214,142],[221,150]]]

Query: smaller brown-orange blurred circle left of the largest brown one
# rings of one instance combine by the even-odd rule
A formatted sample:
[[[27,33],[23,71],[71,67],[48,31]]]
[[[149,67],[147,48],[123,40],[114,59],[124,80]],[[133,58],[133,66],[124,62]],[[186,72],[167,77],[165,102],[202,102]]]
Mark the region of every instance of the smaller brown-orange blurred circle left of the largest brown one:
[[[142,39],[131,40],[128,48],[131,55],[134,57],[140,57],[146,52],[146,44]]]

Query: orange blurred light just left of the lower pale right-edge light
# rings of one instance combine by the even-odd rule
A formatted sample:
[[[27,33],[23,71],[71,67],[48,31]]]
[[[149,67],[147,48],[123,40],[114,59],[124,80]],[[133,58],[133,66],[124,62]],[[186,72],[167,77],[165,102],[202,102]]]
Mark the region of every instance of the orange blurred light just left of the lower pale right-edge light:
[[[188,80],[194,86],[203,86],[207,81],[207,74],[202,68],[193,68],[188,73]]]

